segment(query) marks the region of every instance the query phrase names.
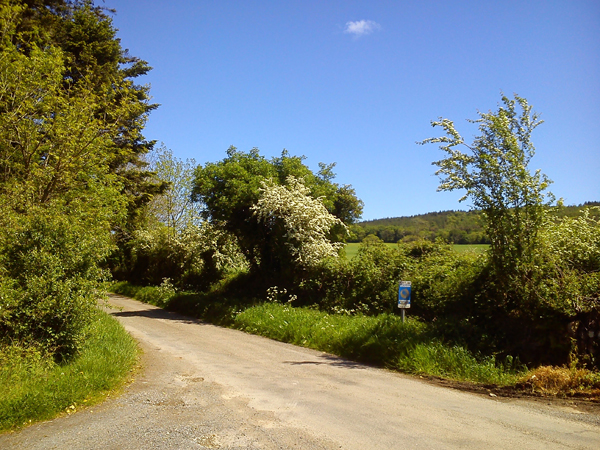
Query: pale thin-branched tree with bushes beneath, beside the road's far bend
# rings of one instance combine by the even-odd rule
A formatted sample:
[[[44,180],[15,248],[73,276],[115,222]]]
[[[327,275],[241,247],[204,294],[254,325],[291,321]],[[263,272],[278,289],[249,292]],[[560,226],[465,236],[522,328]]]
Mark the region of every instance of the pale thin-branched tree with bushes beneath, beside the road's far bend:
[[[206,288],[229,270],[247,268],[235,237],[203,221],[199,203],[191,201],[196,162],[164,146],[147,159],[168,188],[144,208],[143,226],[127,245],[130,258],[115,276],[153,285],[169,278],[178,287]]]

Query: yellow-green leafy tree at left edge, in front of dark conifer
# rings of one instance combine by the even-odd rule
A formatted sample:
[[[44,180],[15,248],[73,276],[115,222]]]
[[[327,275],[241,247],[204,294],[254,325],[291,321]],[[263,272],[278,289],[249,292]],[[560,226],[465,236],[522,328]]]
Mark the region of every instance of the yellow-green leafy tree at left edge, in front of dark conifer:
[[[81,345],[124,217],[118,125],[96,116],[109,99],[89,80],[64,89],[59,48],[12,43],[21,10],[0,7],[0,340],[60,359]]]

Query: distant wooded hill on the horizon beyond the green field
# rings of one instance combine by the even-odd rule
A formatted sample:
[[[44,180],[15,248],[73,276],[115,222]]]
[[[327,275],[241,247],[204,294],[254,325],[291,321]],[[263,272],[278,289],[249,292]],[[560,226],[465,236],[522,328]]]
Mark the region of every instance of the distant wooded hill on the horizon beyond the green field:
[[[556,211],[558,217],[572,217],[589,206],[600,202],[564,206]],[[600,217],[600,212],[594,215]],[[375,235],[384,242],[410,242],[417,239],[435,240],[438,237],[453,244],[489,244],[483,231],[479,211],[440,211],[407,217],[388,217],[367,220],[350,227],[349,242],[361,242],[368,235]]]

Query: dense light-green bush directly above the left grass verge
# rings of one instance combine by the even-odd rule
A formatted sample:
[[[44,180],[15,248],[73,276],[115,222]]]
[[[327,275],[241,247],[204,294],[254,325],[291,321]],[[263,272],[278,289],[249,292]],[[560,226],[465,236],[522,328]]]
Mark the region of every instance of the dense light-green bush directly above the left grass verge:
[[[0,233],[0,343],[77,352],[99,296],[108,231],[59,208],[5,211]]]

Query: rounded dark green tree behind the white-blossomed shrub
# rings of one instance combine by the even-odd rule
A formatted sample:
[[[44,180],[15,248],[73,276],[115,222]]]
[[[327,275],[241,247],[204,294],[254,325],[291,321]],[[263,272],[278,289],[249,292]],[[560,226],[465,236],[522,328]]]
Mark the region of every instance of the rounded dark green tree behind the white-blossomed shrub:
[[[362,202],[352,188],[331,181],[333,166],[322,166],[314,174],[303,160],[285,150],[281,157],[268,160],[256,148],[244,153],[230,147],[222,161],[196,169],[193,200],[202,205],[206,220],[238,239],[255,272],[261,269],[280,274],[284,267],[284,259],[277,251],[281,230],[261,221],[252,209],[262,196],[264,182],[270,180],[274,185],[284,186],[293,176],[302,180],[308,195],[321,198],[327,210],[342,216],[336,215],[343,222],[360,217]],[[342,239],[341,230],[334,227],[328,237],[333,241]]]

